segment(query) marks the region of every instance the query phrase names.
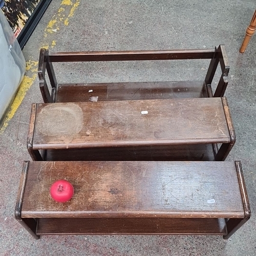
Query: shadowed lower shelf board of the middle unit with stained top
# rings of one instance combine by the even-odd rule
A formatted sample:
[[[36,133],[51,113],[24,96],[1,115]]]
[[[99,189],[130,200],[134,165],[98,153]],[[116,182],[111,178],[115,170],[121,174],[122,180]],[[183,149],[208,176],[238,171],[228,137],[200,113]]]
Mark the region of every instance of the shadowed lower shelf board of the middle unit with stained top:
[[[47,150],[47,161],[214,161],[211,144]]]

